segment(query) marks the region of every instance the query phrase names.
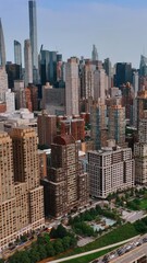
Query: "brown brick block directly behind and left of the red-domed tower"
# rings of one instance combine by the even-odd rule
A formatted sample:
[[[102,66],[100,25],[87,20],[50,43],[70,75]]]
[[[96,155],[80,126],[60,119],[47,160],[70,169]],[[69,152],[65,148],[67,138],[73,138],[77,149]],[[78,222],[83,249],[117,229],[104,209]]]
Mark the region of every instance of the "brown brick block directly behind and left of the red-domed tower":
[[[57,116],[42,111],[38,115],[37,124],[39,145],[51,146],[53,138],[57,136]]]

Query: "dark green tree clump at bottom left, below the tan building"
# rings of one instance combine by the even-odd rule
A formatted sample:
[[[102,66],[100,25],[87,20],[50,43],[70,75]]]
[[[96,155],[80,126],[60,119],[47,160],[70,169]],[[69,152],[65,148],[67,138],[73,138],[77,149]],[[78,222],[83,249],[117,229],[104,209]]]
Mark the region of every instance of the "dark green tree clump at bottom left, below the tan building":
[[[73,249],[76,243],[75,236],[66,231],[62,225],[59,225],[57,229],[51,230],[50,235],[39,235],[37,241],[33,242],[29,249],[16,251],[9,259],[9,263],[36,263]]]

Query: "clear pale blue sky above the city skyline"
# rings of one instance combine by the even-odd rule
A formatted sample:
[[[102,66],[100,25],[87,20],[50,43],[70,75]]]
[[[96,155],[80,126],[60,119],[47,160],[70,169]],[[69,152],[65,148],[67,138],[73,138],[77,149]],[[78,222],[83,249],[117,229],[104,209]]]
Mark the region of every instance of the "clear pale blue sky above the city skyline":
[[[36,0],[38,50],[59,50],[70,56],[110,57],[138,67],[140,54],[147,55],[146,0]],[[0,0],[7,59],[13,61],[13,39],[24,44],[29,37],[28,1]]]

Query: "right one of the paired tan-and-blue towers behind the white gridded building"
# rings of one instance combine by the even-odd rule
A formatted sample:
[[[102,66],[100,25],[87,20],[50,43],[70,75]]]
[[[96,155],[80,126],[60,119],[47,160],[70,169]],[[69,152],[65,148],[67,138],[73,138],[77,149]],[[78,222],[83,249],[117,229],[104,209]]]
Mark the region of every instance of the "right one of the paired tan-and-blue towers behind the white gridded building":
[[[120,99],[113,99],[113,104],[108,107],[108,136],[114,139],[117,145],[125,145],[125,107]]]

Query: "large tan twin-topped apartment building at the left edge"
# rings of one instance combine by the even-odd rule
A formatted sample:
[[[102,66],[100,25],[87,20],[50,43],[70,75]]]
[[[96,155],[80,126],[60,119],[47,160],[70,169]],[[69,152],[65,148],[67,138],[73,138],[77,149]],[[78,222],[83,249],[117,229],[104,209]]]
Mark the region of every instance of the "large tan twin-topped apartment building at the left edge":
[[[45,226],[37,135],[32,128],[0,133],[0,252],[22,235]]]

